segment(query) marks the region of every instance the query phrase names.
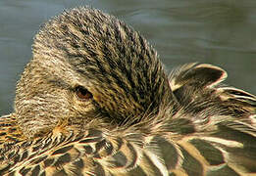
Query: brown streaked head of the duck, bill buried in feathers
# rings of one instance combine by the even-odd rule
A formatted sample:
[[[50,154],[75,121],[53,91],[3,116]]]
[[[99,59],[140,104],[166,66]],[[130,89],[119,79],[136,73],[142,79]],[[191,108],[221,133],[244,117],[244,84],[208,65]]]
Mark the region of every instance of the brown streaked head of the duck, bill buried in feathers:
[[[156,51],[124,22],[78,8],[45,23],[18,83],[19,125],[28,138],[67,122],[120,125],[157,112],[172,91]]]

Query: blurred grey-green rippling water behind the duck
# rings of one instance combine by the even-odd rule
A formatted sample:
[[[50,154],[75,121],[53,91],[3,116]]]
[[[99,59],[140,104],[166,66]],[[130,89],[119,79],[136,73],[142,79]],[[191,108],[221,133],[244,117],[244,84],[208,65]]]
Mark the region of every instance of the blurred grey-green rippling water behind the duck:
[[[256,0],[0,0],[0,115],[13,110],[40,24],[81,5],[139,30],[168,71],[192,62],[221,66],[227,83],[256,94]]]

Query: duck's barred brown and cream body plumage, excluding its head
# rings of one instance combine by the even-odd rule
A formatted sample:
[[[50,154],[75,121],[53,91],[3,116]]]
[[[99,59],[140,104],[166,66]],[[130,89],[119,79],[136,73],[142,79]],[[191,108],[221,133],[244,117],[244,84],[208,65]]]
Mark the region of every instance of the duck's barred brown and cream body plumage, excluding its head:
[[[183,67],[189,70],[194,66]],[[204,68],[223,71],[216,66]],[[180,73],[183,72],[171,76],[170,83],[179,82]],[[180,85],[174,91],[180,91]],[[227,92],[219,94],[222,88]],[[227,115],[221,108],[227,109],[229,104],[212,106],[213,99],[204,100],[209,103],[208,107],[193,111],[196,99],[189,99],[190,103],[179,104],[177,110],[170,106],[147,122],[126,129],[64,133],[56,128],[43,138],[2,143],[0,175],[256,175],[255,97],[226,86],[205,89],[215,90],[218,96],[231,97],[234,102],[240,101],[242,96],[242,103],[248,104],[246,110],[241,110],[246,111],[245,114]],[[242,94],[237,95],[237,92]],[[233,107],[233,100],[230,107]],[[2,119],[6,124],[14,124],[12,116]],[[15,129],[15,125],[10,125],[6,128],[1,123],[1,136]]]

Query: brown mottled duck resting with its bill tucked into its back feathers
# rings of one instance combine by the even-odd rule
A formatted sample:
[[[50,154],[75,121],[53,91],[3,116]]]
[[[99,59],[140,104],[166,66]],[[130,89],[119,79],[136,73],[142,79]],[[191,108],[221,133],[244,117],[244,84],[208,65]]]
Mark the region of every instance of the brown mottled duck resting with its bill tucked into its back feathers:
[[[45,23],[0,118],[0,175],[256,175],[256,97],[225,70],[168,76],[126,23],[81,7]]]

